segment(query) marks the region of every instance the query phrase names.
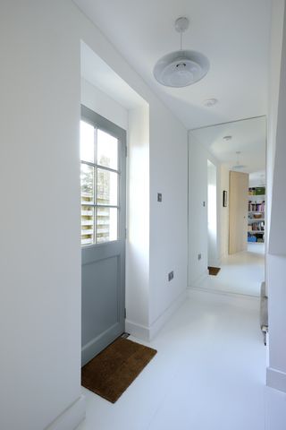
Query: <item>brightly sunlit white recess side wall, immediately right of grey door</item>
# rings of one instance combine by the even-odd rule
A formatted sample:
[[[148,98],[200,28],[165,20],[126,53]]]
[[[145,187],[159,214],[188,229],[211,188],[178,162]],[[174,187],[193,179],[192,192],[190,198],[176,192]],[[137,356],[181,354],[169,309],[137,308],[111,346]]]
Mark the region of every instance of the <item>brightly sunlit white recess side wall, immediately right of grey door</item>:
[[[129,112],[126,331],[147,338],[149,325],[149,108]]]

